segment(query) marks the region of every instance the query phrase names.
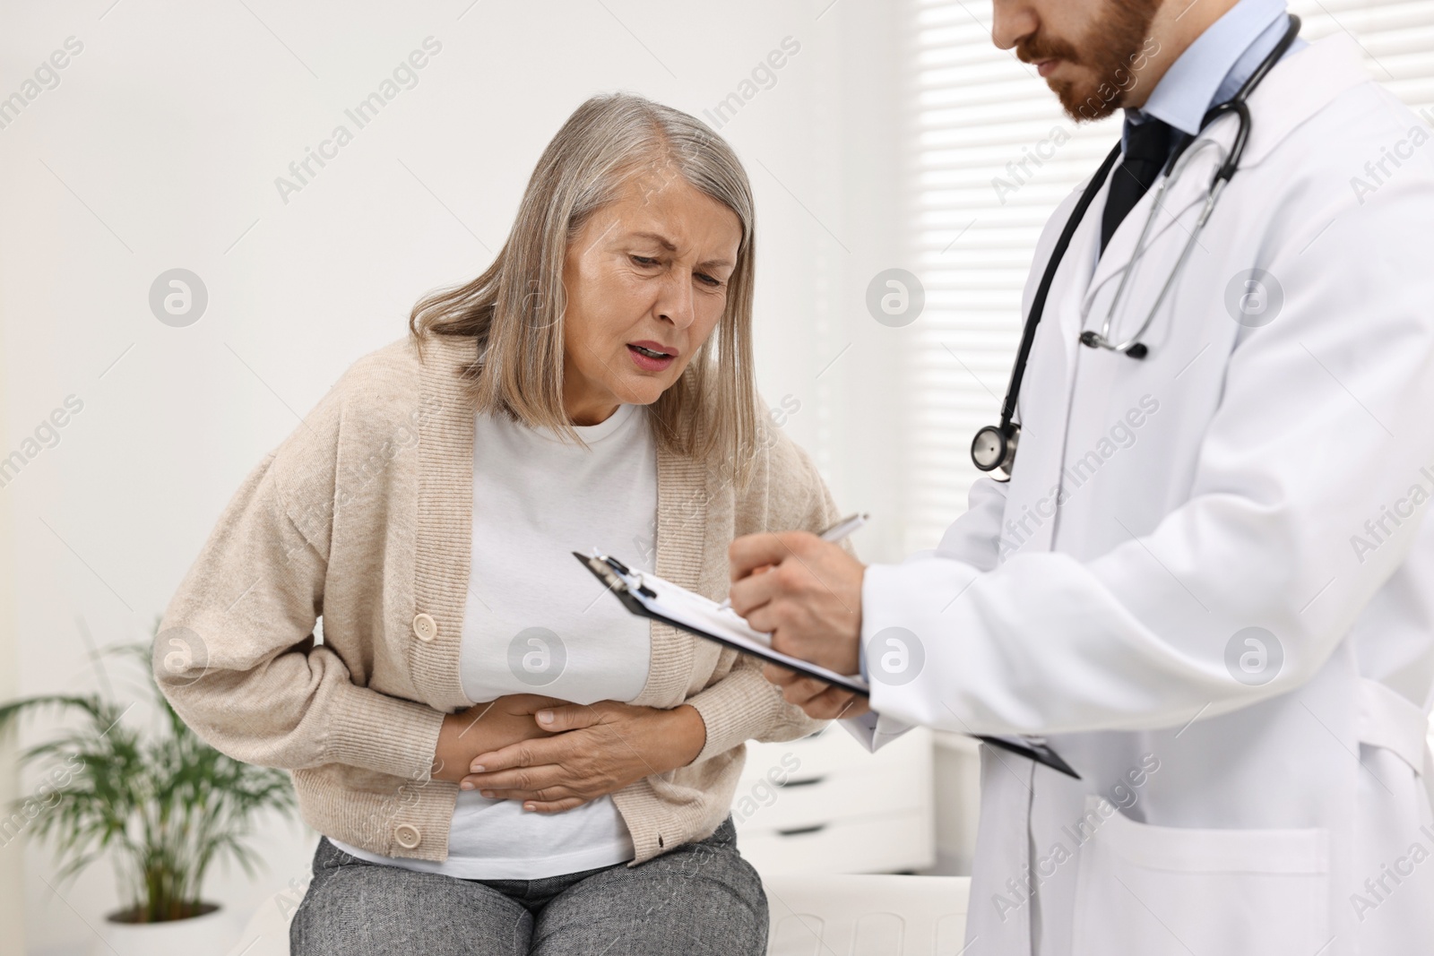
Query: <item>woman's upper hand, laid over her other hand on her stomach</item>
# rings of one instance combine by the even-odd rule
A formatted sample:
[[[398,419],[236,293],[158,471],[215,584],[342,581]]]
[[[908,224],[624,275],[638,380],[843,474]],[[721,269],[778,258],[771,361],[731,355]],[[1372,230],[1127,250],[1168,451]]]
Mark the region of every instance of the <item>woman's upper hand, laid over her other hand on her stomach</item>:
[[[562,704],[539,709],[536,727],[552,734],[478,755],[460,785],[522,800],[523,810],[559,813],[685,767],[707,744],[707,725],[690,704],[670,711],[617,701]]]

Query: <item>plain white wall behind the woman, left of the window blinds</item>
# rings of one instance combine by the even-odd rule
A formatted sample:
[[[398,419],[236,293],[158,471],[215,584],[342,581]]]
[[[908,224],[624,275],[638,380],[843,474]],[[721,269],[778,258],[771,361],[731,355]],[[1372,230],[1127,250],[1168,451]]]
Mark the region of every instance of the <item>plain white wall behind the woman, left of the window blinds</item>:
[[[404,334],[419,295],[488,264],[582,99],[628,89],[703,116],[787,36],[800,52],[721,129],[759,202],[759,377],[769,401],[800,401],[786,427],[842,505],[873,512],[863,556],[895,558],[895,330],[863,297],[875,272],[911,268],[895,252],[896,6],[0,3],[0,97],[67,37],[83,44],[0,129],[0,456],[67,396],[83,403],[0,487],[7,678],[17,661],[0,694],[95,688],[82,628],[98,645],[148,636],[242,474]],[[417,86],[357,129],[346,107],[430,36],[442,52]],[[275,176],[340,123],[353,142],[281,201]],[[176,267],[209,297],[185,328],[148,304]],[[295,827],[261,844],[265,877],[219,873],[209,896],[247,909],[307,866]],[[0,849],[0,874],[19,847]],[[87,946],[115,906],[109,874],[57,896],[46,849],[23,863],[29,952]],[[0,953],[22,952],[4,922]]]

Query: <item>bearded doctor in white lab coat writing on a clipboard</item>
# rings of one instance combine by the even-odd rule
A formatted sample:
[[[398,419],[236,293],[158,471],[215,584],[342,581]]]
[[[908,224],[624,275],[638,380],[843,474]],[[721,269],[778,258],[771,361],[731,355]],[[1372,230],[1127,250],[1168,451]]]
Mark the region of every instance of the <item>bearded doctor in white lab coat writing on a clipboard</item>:
[[[1078,771],[982,747],[968,956],[1434,952],[1434,145],[1348,36],[1281,50],[1289,24],[997,0],[995,43],[1073,118],[1124,109],[1119,165],[1035,254],[1027,314],[1087,195],[1010,480],[902,565],[731,545],[753,626],[869,675],[866,712],[771,671],[809,714],[872,747],[1041,735]],[[1202,118],[1266,60],[1197,231],[1240,126]]]

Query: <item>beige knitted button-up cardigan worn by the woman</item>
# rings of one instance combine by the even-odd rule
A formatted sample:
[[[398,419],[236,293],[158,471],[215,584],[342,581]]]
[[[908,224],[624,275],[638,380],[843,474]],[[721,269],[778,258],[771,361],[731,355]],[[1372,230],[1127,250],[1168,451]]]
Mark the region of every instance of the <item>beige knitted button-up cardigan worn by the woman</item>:
[[[245,477],[155,641],[155,677],[185,722],[237,760],[290,770],[310,826],[386,856],[447,857],[457,784],[429,774],[443,715],[475,704],[459,682],[475,427],[460,368],[473,357],[473,340],[435,337],[420,360],[406,337],[354,363]],[[734,536],[836,519],[810,460],[771,427],[741,493],[661,451],[657,473],[657,573],[713,599]],[[655,622],[651,639],[632,702],[691,704],[707,744],[614,794],[638,863],[721,823],[743,741],[819,727],[751,658]]]

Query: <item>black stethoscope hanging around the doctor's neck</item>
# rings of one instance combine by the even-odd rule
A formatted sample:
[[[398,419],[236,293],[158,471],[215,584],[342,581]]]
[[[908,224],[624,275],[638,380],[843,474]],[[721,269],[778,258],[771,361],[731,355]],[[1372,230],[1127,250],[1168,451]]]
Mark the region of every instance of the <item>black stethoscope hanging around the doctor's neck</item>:
[[[1230,143],[1229,152],[1225,155],[1225,162],[1216,169],[1215,176],[1210,179],[1210,186],[1205,196],[1205,206],[1200,209],[1200,215],[1195,222],[1195,228],[1190,229],[1189,238],[1184,242],[1184,248],[1180,251],[1180,258],[1176,259],[1174,268],[1170,269],[1170,275],[1166,278],[1164,285],[1160,287],[1160,295],[1156,297],[1154,305],[1146,314],[1146,321],[1140,324],[1133,335],[1124,341],[1110,340],[1110,327],[1114,315],[1119,311],[1119,305],[1126,294],[1126,285],[1130,282],[1130,275],[1136,269],[1136,264],[1140,257],[1146,252],[1146,239],[1150,236],[1150,228],[1154,225],[1156,216],[1162,209],[1162,199],[1170,188],[1170,183],[1177,181],[1184,172],[1190,159],[1200,153],[1206,148],[1219,148],[1213,139],[1197,140],[1189,133],[1183,135],[1170,159],[1166,161],[1164,169],[1162,169],[1162,178],[1156,186],[1154,201],[1150,205],[1150,212],[1146,214],[1144,228],[1140,231],[1140,238],[1136,241],[1136,251],[1130,257],[1129,265],[1126,265],[1124,274],[1120,277],[1120,285],[1116,287],[1116,297],[1111,300],[1110,307],[1106,310],[1106,318],[1101,321],[1100,331],[1086,330],[1080,334],[1080,343],[1090,348],[1107,348],[1110,351],[1119,351],[1130,355],[1131,358],[1144,358],[1150,354],[1140,338],[1150,328],[1150,324],[1156,318],[1156,312],[1164,304],[1170,288],[1174,285],[1176,278],[1180,275],[1180,269],[1184,268],[1184,262],[1190,258],[1190,249],[1195,248],[1200,231],[1210,218],[1210,212],[1215,209],[1215,204],[1219,201],[1220,193],[1229,185],[1230,179],[1235,176],[1235,171],[1239,169],[1240,158],[1245,155],[1245,143],[1249,140],[1250,133],[1250,112],[1246,100],[1255,87],[1260,85],[1265,75],[1279,63],[1281,57],[1293,44],[1295,37],[1299,36],[1299,17],[1289,14],[1289,29],[1285,30],[1285,36],[1281,37],[1279,43],[1273,50],[1269,52],[1260,64],[1255,69],[1245,85],[1228,99],[1226,102],[1210,107],[1210,110],[1200,120],[1200,130],[1212,122],[1225,116],[1226,113],[1235,113],[1239,118],[1239,129],[1235,133],[1235,142]],[[1196,143],[1195,149],[1189,149],[1190,143]],[[1012,421],[1015,416],[1015,406],[1021,397],[1021,380],[1025,377],[1025,363],[1031,357],[1031,344],[1035,341],[1035,327],[1041,322],[1041,314],[1045,311],[1045,297],[1051,291],[1051,282],[1055,279],[1055,271],[1061,265],[1061,259],[1065,257],[1065,249],[1071,244],[1071,236],[1076,235],[1076,226],[1080,225],[1081,216],[1086,215],[1086,209],[1096,199],[1096,193],[1100,192],[1101,185],[1104,185],[1106,178],[1110,175],[1111,168],[1114,168],[1116,161],[1120,159],[1120,143],[1110,150],[1101,162],[1100,169],[1091,178],[1090,185],[1086,186],[1086,192],[1081,193],[1080,201],[1071,211],[1070,219],[1065,221],[1065,228],[1061,229],[1060,238],[1055,241],[1055,248],[1051,249],[1051,258],[1045,264],[1045,272],[1041,275],[1040,285],[1035,287],[1035,297],[1031,300],[1031,312],[1025,320],[1025,328],[1021,331],[1021,345],[1015,353],[1015,365],[1011,368],[1011,383],[1007,386],[1005,398],[1001,401],[1001,424],[988,424],[987,427],[977,431],[975,439],[971,440],[971,462],[975,463],[982,472],[997,472],[997,480],[1008,482],[1011,480],[1011,466],[1015,464],[1015,446],[1021,437],[1021,424]]]

